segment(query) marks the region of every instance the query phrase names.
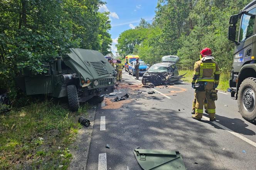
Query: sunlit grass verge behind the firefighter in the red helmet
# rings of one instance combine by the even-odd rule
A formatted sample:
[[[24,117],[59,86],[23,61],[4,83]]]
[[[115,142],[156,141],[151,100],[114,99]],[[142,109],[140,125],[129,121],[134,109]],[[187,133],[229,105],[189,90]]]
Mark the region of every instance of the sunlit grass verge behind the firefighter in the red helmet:
[[[185,82],[191,82],[192,80],[192,76],[194,71],[192,70],[179,70],[179,74],[185,74],[187,73],[183,78],[183,80]],[[219,86],[217,89],[222,90],[222,91],[226,91],[227,88],[229,88],[229,73],[226,72],[221,72],[221,76],[220,76],[220,82],[219,82]]]

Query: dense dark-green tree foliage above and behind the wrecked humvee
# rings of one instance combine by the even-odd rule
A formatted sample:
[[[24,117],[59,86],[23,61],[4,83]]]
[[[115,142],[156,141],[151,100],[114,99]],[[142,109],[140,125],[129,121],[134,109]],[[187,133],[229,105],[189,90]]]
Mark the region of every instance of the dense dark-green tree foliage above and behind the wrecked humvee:
[[[108,13],[101,0],[0,0],[0,90],[13,85],[19,68],[42,73],[42,62],[71,47],[109,53]]]

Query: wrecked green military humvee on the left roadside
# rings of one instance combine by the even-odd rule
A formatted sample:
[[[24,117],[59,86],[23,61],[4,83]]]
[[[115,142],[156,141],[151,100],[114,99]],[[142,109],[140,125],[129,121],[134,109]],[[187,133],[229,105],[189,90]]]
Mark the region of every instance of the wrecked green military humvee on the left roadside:
[[[17,85],[27,94],[46,94],[67,97],[70,110],[77,111],[79,102],[94,98],[98,102],[114,91],[116,72],[98,51],[71,48],[63,59],[57,57],[44,63],[47,73],[32,75],[22,70],[15,78]]]

